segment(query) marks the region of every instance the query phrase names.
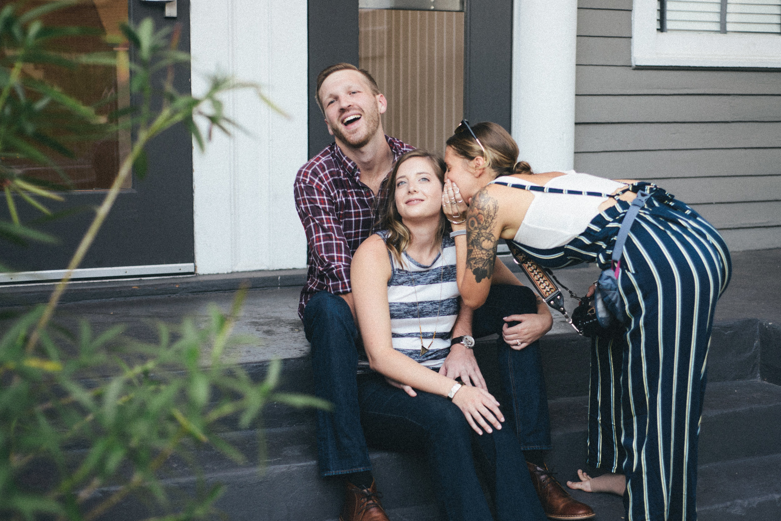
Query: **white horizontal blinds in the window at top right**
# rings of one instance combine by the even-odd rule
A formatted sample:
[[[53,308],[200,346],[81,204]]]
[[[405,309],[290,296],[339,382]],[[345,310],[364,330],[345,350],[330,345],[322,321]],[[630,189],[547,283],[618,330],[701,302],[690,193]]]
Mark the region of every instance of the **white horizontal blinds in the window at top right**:
[[[657,29],[781,34],[781,0],[659,0]]]

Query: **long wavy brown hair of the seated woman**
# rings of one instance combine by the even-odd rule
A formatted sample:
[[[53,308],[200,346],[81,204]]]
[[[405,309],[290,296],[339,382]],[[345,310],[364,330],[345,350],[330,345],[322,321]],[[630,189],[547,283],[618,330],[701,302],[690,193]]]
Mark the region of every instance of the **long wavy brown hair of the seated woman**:
[[[405,224],[401,222],[401,214],[398,213],[398,208],[396,207],[396,176],[398,175],[398,168],[401,165],[404,165],[405,161],[412,158],[428,159],[431,162],[431,165],[433,165],[434,173],[437,175],[437,179],[439,179],[442,186],[444,186],[444,171],[446,169],[444,161],[437,154],[417,149],[401,155],[391,171],[391,175],[387,181],[385,200],[380,203],[380,218],[374,226],[374,229],[387,231],[388,236],[387,239],[385,239],[385,244],[391,252],[391,255],[393,255],[394,259],[396,259],[401,266],[406,264],[401,258],[401,252],[407,249],[411,234]],[[442,242],[445,232],[448,230],[448,226],[448,219],[445,218],[444,213],[440,211],[440,223],[439,228],[437,229],[437,239],[439,239],[440,243]]]

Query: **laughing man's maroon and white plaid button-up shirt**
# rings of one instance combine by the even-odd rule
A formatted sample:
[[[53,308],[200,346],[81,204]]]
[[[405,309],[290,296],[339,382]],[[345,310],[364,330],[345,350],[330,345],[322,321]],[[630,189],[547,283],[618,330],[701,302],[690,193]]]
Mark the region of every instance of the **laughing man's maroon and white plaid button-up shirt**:
[[[394,161],[414,150],[401,140],[385,139]],[[309,246],[309,271],[298,301],[298,317],[303,319],[304,307],[316,292],[351,292],[350,262],[358,246],[369,238],[380,197],[361,183],[358,165],[335,143],[301,167],[293,193]]]

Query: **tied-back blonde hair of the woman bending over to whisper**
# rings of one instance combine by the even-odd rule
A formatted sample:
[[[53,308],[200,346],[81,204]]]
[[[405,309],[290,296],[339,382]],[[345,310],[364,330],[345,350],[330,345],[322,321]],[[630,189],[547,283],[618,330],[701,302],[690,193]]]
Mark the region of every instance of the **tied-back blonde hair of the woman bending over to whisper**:
[[[472,131],[485,148],[485,154],[468,129],[460,125],[456,130],[458,132],[448,138],[447,146],[452,147],[456,154],[469,161],[474,158],[485,159],[486,168],[494,172],[494,177],[534,173],[526,161],[516,162],[518,145],[501,125],[484,121],[472,126]]]

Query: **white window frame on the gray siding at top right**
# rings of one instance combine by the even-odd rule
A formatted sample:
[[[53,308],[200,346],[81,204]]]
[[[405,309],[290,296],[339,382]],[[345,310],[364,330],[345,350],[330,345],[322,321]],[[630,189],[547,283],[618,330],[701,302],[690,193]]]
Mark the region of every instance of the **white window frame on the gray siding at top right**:
[[[696,33],[656,29],[657,0],[634,0],[635,67],[781,68],[781,34]]]

